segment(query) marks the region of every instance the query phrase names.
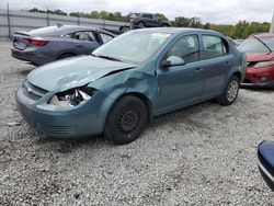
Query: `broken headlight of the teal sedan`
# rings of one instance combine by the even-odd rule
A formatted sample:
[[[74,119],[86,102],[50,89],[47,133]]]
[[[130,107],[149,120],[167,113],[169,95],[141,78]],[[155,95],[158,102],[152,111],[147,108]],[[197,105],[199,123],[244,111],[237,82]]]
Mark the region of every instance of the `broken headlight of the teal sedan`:
[[[94,93],[95,89],[92,88],[88,87],[75,88],[55,94],[48,102],[48,104],[65,106],[65,107],[73,107],[79,104],[88,102]]]

